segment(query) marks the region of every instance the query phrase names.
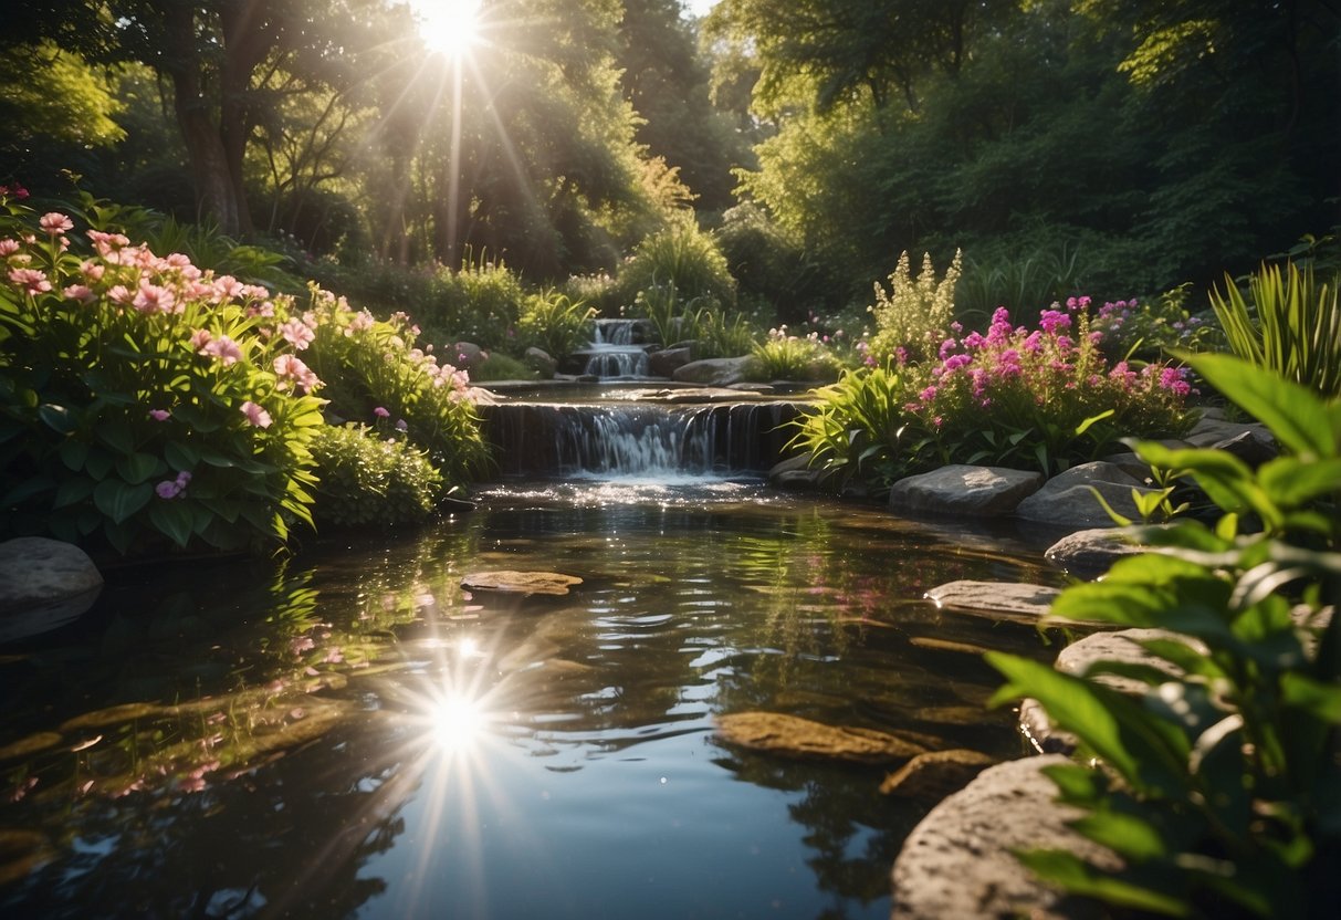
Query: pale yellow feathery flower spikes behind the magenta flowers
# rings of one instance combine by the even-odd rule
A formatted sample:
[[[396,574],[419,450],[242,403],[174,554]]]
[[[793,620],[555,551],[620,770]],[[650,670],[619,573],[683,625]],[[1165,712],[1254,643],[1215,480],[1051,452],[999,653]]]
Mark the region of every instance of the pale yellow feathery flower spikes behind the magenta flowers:
[[[957,251],[940,282],[936,280],[931,253],[923,256],[917,280],[909,272],[908,252],[900,255],[897,267],[889,275],[889,292],[877,282],[876,303],[868,307],[876,319],[870,350],[877,357],[889,357],[901,349],[905,359],[912,362],[935,355],[955,318],[955,284],[959,274]]]

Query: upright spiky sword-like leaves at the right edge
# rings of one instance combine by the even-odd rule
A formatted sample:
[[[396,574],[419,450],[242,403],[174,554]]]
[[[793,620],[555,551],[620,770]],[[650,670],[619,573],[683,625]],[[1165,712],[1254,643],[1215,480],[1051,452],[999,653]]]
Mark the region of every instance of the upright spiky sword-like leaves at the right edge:
[[[1341,272],[1318,280],[1313,263],[1263,264],[1248,278],[1248,299],[1228,275],[1211,304],[1236,355],[1303,384],[1324,397],[1341,396]]]

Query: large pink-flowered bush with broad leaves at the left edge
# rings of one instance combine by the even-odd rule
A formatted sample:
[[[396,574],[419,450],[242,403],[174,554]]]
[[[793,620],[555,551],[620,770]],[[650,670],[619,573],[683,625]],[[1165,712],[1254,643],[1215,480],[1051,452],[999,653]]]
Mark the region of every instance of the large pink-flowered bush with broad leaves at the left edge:
[[[0,527],[129,553],[310,523],[320,381],[291,304],[97,227],[83,257],[68,216],[0,208]]]

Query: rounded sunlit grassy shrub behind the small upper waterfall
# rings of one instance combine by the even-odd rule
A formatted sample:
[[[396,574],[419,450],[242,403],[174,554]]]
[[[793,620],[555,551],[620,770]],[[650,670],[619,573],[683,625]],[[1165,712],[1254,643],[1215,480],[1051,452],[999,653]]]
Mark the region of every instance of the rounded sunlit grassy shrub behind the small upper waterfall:
[[[642,240],[620,270],[620,288],[632,302],[652,287],[673,286],[691,300],[707,298],[719,307],[736,302],[736,280],[711,233],[691,221]]]

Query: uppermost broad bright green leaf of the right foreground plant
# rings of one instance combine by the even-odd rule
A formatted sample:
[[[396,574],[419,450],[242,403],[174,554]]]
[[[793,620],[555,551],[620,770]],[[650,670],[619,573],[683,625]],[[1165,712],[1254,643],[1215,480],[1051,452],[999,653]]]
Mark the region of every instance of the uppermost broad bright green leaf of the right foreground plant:
[[[1318,459],[1337,455],[1337,429],[1329,424],[1328,406],[1309,388],[1228,354],[1180,357],[1226,398],[1271,429],[1287,449]]]

